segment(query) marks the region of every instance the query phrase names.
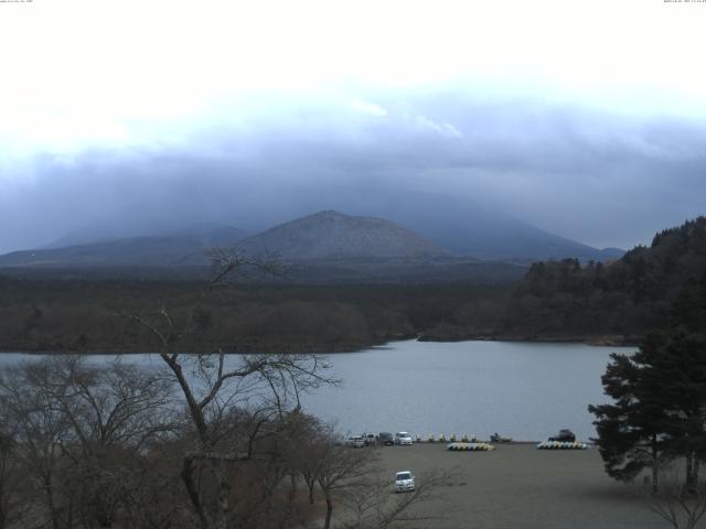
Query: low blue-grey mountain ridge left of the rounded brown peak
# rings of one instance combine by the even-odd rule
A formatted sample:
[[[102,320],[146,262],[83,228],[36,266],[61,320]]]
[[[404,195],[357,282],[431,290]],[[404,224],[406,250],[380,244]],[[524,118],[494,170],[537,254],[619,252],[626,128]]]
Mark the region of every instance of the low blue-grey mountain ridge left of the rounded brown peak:
[[[200,263],[204,248],[234,245],[244,237],[237,228],[222,226],[208,231],[182,231],[163,237],[129,237],[85,245],[13,251],[0,256],[0,267],[171,267]]]

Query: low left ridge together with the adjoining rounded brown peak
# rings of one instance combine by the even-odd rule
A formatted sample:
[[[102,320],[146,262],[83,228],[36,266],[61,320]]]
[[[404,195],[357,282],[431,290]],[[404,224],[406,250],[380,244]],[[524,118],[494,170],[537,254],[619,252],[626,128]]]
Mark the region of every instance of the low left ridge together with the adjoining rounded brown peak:
[[[381,218],[320,212],[243,239],[221,227],[182,230],[170,237],[130,237],[0,256],[0,267],[173,267],[208,263],[203,249],[237,246],[249,253],[272,253],[288,261],[426,260],[449,253],[411,231]]]

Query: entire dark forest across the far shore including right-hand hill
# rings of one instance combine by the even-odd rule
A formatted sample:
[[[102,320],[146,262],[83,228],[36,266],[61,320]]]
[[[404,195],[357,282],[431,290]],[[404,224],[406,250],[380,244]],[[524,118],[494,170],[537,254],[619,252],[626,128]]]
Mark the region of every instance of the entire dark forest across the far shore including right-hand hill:
[[[637,343],[668,319],[680,289],[706,273],[706,218],[654,237],[622,259],[534,263],[514,284],[237,284],[200,313],[186,350],[336,352],[391,339],[573,339]],[[448,279],[448,277],[446,278]],[[199,281],[0,276],[0,348],[153,350],[120,314],[180,315]]]

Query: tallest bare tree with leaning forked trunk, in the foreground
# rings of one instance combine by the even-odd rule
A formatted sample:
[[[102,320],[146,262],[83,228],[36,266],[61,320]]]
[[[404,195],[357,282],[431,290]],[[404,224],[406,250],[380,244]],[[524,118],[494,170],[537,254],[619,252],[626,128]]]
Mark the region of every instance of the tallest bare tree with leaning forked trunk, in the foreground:
[[[233,465],[255,457],[255,440],[278,434],[272,419],[300,408],[301,391],[331,380],[321,374],[318,355],[228,356],[221,347],[193,355],[179,352],[183,342],[200,330],[199,314],[204,301],[228,282],[233,274],[252,271],[277,274],[271,262],[247,258],[237,251],[215,249],[214,273],[206,288],[181,320],[162,306],[156,315],[129,317],[158,339],[159,355],[170,369],[188,410],[193,432],[192,449],[183,454],[181,478],[199,525],[204,529],[225,529],[232,517]],[[254,410],[252,428],[226,421],[228,410]],[[267,425],[268,428],[261,428]],[[213,487],[204,484],[211,479]]]

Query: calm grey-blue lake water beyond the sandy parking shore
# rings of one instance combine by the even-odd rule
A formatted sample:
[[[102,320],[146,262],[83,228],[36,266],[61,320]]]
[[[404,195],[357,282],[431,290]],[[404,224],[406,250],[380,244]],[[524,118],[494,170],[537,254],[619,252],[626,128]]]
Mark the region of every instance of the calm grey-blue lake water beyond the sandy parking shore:
[[[360,353],[329,356],[340,388],[303,397],[304,408],[343,433],[407,430],[429,433],[493,432],[515,440],[545,440],[561,428],[595,435],[589,403],[607,401],[600,376],[612,352],[630,347],[521,342],[393,342]],[[0,367],[36,356],[6,353]],[[113,356],[94,356],[107,361]],[[156,355],[130,361],[161,366]]]

